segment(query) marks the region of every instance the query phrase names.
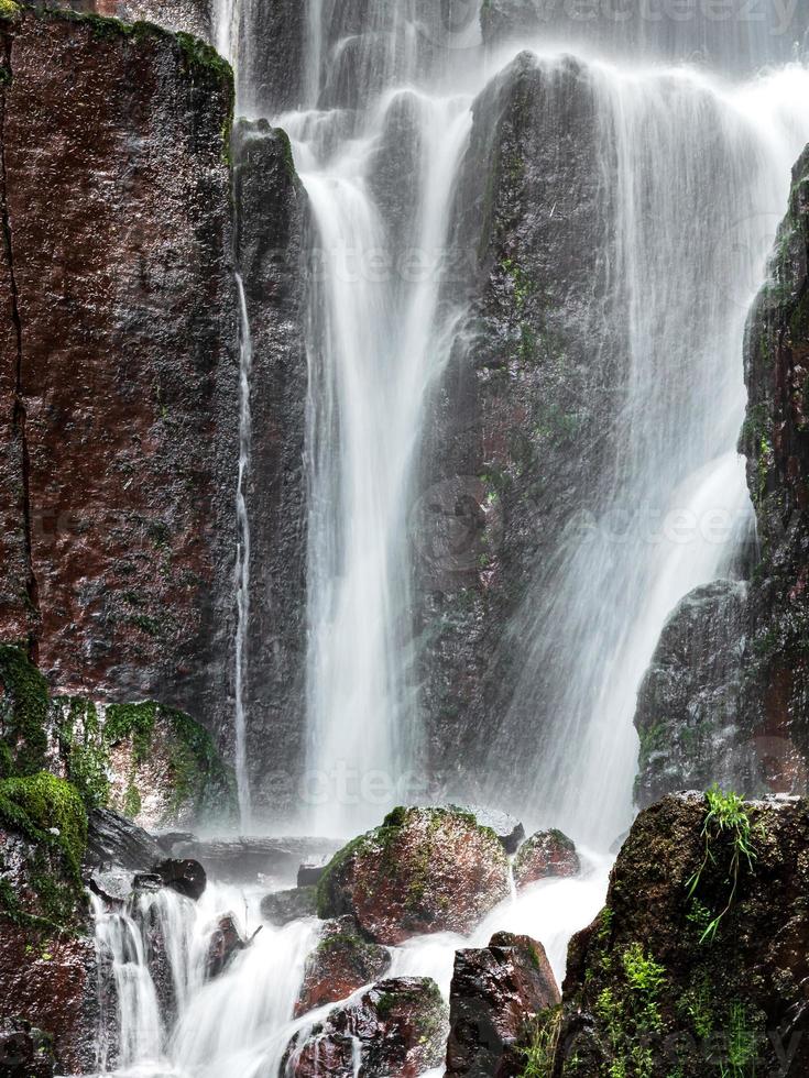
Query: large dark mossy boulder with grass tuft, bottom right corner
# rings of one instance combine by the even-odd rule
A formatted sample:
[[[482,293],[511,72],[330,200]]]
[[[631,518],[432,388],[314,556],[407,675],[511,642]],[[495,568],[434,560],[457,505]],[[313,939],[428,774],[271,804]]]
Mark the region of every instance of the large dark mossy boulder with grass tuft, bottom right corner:
[[[710,820],[709,807],[668,796],[635,822],[605,910],[570,947],[556,1078],[631,1074],[641,1053],[648,1078],[731,1058],[747,1074],[807,1072],[809,805],[725,802]],[[720,818],[750,824],[752,867],[733,869],[735,829]]]

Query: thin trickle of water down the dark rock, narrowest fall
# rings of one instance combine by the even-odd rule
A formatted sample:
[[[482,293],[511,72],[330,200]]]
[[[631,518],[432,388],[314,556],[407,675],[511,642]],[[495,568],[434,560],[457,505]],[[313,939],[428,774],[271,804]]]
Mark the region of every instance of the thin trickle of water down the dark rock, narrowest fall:
[[[250,827],[250,774],[247,755],[247,713],[244,706],[248,673],[248,645],[250,626],[250,516],[247,487],[250,476],[250,448],[252,422],[250,416],[250,372],[253,361],[253,343],[250,336],[248,302],[244,285],[236,275],[240,312],[239,362],[239,482],[236,497],[236,516],[239,540],[236,557],[236,781],[239,795],[239,816],[243,829]]]

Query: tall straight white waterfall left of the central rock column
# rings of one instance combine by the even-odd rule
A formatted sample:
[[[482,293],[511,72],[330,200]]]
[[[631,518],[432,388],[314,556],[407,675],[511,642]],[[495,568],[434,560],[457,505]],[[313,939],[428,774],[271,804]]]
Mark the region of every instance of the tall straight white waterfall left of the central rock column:
[[[330,50],[325,7],[329,25],[339,14],[309,8],[310,107],[278,122],[315,235],[308,780],[315,827],[349,833],[409,800],[423,767],[407,528],[425,396],[449,343],[438,297],[471,96],[425,72],[412,4],[374,11],[368,33]]]

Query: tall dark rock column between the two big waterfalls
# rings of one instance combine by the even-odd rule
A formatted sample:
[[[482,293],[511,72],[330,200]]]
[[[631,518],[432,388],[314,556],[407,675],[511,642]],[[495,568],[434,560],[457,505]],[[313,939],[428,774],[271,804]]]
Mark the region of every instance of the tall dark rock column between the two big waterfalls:
[[[558,592],[565,542],[598,513],[620,396],[603,387],[623,384],[627,348],[604,299],[616,179],[591,73],[523,54],[473,114],[449,243],[469,316],[425,425],[423,684],[439,779],[447,744],[464,768],[447,796],[455,782],[518,813],[516,761],[557,686],[547,663],[516,691],[536,630],[506,626],[526,594],[536,609]]]

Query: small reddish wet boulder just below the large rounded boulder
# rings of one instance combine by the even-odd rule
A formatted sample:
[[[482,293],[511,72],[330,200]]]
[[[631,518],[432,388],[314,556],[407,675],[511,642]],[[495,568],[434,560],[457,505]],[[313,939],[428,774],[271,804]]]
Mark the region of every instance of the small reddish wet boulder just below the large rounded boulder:
[[[380,980],[390,968],[387,948],[363,939],[352,917],[327,921],[317,947],[306,959],[295,1016],[347,999],[363,985]]]

